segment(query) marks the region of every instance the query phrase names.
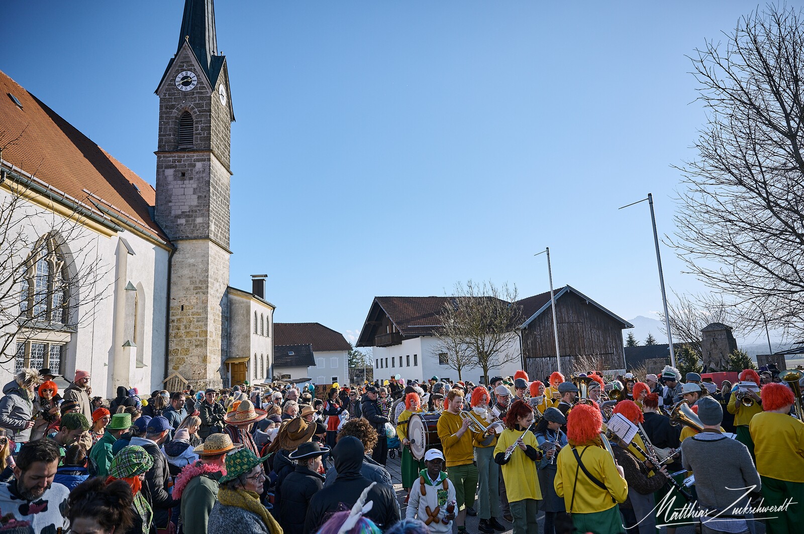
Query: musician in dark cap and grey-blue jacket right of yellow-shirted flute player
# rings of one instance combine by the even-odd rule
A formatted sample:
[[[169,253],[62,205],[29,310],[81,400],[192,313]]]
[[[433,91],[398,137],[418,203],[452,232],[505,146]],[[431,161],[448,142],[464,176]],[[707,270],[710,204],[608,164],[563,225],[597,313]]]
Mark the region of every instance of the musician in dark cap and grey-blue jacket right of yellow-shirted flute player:
[[[566,516],[564,499],[556,495],[553,483],[556,480],[556,456],[558,451],[567,446],[567,434],[561,431],[561,426],[567,424],[557,408],[544,410],[542,418],[536,424],[534,434],[544,458],[536,466],[539,470],[539,488],[542,491],[542,502],[539,508],[544,512],[544,534],[556,534],[556,517]]]

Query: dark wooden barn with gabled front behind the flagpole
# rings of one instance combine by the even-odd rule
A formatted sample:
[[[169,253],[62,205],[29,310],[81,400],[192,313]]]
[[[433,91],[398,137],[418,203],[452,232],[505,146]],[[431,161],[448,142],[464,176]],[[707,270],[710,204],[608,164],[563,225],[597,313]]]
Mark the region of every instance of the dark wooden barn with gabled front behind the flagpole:
[[[573,363],[593,362],[596,370],[626,369],[622,331],[633,324],[609,312],[571,286],[555,291],[561,372]],[[550,291],[517,301],[523,308],[520,339],[525,370],[531,380],[544,380],[556,370]],[[576,373],[591,369],[574,369]]]

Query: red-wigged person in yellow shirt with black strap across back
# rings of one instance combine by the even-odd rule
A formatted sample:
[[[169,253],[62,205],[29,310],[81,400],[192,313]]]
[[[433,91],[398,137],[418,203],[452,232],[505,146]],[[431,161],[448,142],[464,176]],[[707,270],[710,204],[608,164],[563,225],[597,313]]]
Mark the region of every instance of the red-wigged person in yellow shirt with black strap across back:
[[[569,446],[558,455],[553,486],[556,495],[564,498],[578,532],[621,534],[625,531],[617,503],[626,501],[628,484],[622,467],[614,463],[612,454],[603,446],[602,425],[603,418],[596,407],[572,407],[567,418]],[[581,464],[597,483],[580,471]]]

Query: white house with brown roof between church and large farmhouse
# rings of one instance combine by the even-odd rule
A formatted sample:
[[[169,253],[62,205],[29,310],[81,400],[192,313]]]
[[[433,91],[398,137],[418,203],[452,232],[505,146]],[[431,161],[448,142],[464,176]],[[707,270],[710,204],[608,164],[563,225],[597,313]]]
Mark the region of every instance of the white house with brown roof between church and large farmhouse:
[[[284,380],[309,377],[314,384],[343,384],[349,380],[349,351],[351,345],[340,332],[320,323],[276,323],[274,324],[274,350],[290,345],[310,344],[312,359],[295,360],[287,364],[274,365],[274,376]],[[293,349],[289,349],[293,351]],[[297,351],[293,351],[296,353]],[[278,352],[277,352],[278,354]],[[305,358],[307,357],[306,353]],[[292,364],[292,365],[291,365]],[[296,376],[303,375],[303,376]]]

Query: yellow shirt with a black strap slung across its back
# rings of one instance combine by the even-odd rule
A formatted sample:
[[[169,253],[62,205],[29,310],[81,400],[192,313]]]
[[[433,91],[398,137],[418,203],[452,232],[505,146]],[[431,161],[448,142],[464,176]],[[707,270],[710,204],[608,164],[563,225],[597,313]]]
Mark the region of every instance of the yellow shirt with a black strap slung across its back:
[[[558,459],[556,459],[557,471],[553,487],[556,488],[556,495],[564,497],[564,506],[567,507],[567,511],[569,512],[570,503],[572,503],[573,487],[575,488],[575,503],[572,503],[572,512],[580,514],[605,512],[609,508],[617,506],[617,503],[625,502],[628,496],[628,483],[617,472],[614,459],[609,451],[599,446],[579,446],[576,447],[576,450],[579,456],[583,455],[580,461],[584,463],[586,470],[605,484],[608,491],[597,487],[583,471],[578,470],[576,479],[578,463],[575,455],[572,454],[572,447],[565,446],[560,450]],[[612,497],[617,502],[613,502]]]

